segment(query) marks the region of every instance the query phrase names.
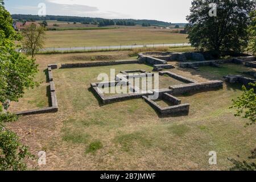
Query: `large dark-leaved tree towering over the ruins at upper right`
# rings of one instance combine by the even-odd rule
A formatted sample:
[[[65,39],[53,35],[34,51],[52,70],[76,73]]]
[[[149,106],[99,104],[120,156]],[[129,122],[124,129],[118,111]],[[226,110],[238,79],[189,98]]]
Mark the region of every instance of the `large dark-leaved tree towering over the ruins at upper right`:
[[[210,16],[210,3],[217,5],[217,16]],[[249,13],[255,0],[193,0],[188,20],[188,39],[201,51],[240,52],[247,46]]]

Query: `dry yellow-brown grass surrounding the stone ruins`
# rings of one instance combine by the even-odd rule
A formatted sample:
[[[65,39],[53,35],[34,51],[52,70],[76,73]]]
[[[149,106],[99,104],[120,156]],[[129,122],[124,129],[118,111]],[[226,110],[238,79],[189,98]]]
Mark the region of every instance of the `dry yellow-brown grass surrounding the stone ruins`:
[[[37,55],[42,84],[26,91],[12,103],[11,110],[48,104],[46,69],[49,63],[131,59],[130,51]],[[93,59],[92,59],[93,57]],[[175,63],[173,63],[175,64]],[[197,81],[222,79],[226,73],[252,69],[224,64],[224,68],[171,69]],[[232,99],[241,94],[241,85],[224,84],[223,89],[185,94],[179,97],[191,107],[188,115],[160,117],[141,98],[102,105],[90,90],[99,73],[129,69],[152,71],[143,64],[107,67],[55,69],[59,111],[20,117],[7,127],[18,133],[32,154],[46,151],[47,165],[40,170],[225,170],[228,157],[247,159],[255,148],[255,127],[243,127],[246,120],[234,117]],[[255,69],[254,69],[255,70]],[[168,82],[168,79],[164,80]],[[217,152],[217,165],[209,166],[209,151]],[[36,162],[30,163],[36,167]]]

